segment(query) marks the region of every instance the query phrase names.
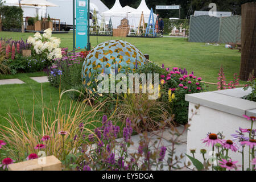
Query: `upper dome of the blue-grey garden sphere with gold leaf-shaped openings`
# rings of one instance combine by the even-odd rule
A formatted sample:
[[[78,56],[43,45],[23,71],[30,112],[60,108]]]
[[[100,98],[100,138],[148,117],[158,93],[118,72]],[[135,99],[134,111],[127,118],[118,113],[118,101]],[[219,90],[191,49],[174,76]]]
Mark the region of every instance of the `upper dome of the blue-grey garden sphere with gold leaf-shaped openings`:
[[[110,74],[111,69],[117,73],[135,71],[146,63],[146,58],[139,49],[129,42],[122,40],[109,40],[98,44],[86,56],[82,65],[82,84],[90,86],[95,73]],[[123,69],[122,69],[123,68]]]

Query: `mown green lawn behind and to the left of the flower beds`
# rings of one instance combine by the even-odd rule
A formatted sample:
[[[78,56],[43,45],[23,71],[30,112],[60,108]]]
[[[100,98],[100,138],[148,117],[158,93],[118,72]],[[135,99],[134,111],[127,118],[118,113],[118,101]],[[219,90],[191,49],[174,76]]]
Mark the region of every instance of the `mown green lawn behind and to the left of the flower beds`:
[[[27,39],[32,33],[20,32],[0,32],[0,38],[20,38]],[[53,34],[61,39],[61,47],[72,49],[72,33]],[[194,71],[197,77],[202,77],[203,81],[217,82],[218,71],[223,65],[227,80],[232,80],[233,73],[239,73],[241,53],[236,49],[226,49],[221,46],[205,46],[204,43],[190,43],[183,38],[114,38],[108,36],[90,36],[92,46],[110,39],[122,39],[130,42],[139,48],[144,54],[150,55],[150,60],[165,67],[186,68],[189,72]],[[2,85],[0,86],[0,115],[6,113],[19,113],[19,107],[24,110],[27,117],[31,117],[33,108],[33,95],[37,98],[41,96],[41,84],[31,80],[29,77],[44,76],[45,73],[19,73],[17,75],[0,76],[4,78],[19,78],[26,82],[22,85]],[[42,84],[43,98],[45,103],[57,104],[59,100],[59,90],[53,88],[49,83]],[[209,90],[216,90],[216,86],[209,86]],[[19,103],[19,107],[17,105]],[[68,103],[68,99],[65,98]],[[40,118],[40,102],[35,102],[35,117]],[[0,118],[0,123],[4,120]]]

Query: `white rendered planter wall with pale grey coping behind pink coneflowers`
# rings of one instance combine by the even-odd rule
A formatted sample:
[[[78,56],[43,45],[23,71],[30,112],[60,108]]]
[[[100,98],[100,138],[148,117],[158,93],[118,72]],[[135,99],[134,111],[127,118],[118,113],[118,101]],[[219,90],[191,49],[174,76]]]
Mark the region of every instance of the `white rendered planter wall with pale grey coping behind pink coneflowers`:
[[[207,133],[218,133],[219,131],[225,135],[225,139],[233,139],[231,134],[235,134],[239,127],[242,129],[250,129],[251,122],[242,117],[243,114],[256,117],[256,102],[241,99],[251,92],[249,90],[229,89],[219,90],[214,92],[203,92],[196,94],[187,94],[185,100],[189,102],[189,115],[192,117],[193,109],[200,104],[197,115],[194,115],[192,121],[189,123],[191,126],[188,130],[187,140],[187,154],[191,155],[190,150],[196,149],[195,158],[203,162],[203,157],[200,154],[200,149],[207,150],[206,158],[212,151],[212,147],[206,147],[201,139],[207,137]],[[255,129],[255,123],[254,123]],[[238,152],[229,152],[233,160],[238,160],[242,164],[242,155]],[[249,150],[245,150],[245,169],[249,166]],[[187,158],[188,162],[188,158]]]

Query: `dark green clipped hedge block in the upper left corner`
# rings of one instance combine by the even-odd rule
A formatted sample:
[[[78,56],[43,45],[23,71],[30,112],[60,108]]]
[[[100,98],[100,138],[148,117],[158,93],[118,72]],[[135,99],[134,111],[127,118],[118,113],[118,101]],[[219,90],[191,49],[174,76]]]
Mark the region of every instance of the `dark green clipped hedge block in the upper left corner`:
[[[5,28],[21,28],[23,10],[18,6],[2,6],[0,9],[2,24]]]

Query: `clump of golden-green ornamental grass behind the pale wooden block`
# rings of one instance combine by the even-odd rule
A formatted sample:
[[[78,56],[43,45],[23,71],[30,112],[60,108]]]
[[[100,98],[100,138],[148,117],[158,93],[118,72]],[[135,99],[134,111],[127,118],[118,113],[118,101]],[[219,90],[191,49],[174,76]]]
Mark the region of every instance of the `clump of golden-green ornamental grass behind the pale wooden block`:
[[[65,155],[73,154],[86,143],[86,138],[92,134],[90,129],[99,122],[97,117],[100,117],[100,108],[104,103],[92,107],[85,100],[70,101],[69,105],[63,105],[61,98],[65,92],[60,94],[56,107],[47,107],[43,100],[38,100],[42,102],[40,121],[36,121],[34,117],[32,121],[27,121],[22,110],[19,115],[8,113],[8,117],[3,117],[7,125],[1,125],[0,138],[6,141],[8,155],[15,158],[16,162],[39,151],[64,160]],[[34,115],[34,110],[32,114]]]

